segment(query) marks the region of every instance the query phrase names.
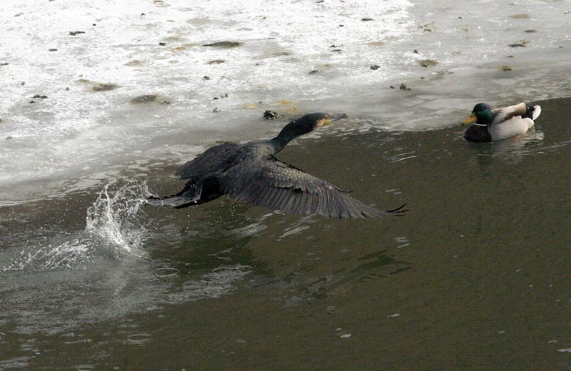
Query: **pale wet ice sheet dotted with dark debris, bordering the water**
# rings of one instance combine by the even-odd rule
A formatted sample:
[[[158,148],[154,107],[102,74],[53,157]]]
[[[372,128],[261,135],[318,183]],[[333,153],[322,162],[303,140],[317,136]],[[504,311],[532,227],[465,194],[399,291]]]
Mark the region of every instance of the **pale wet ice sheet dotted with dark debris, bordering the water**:
[[[2,1],[0,203],[266,138],[284,123],[264,122],[268,108],[417,130],[450,126],[476,101],[565,95],[568,11],[560,1],[122,0],[113,11]]]

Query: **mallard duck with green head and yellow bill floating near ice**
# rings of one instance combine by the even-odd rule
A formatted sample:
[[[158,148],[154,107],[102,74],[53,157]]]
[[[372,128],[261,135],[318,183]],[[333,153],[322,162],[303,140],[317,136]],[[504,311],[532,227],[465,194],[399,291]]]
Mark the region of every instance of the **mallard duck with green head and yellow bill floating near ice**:
[[[540,106],[526,106],[523,102],[493,111],[486,103],[477,103],[470,117],[463,123],[463,125],[473,123],[466,130],[464,138],[467,141],[481,143],[517,136],[529,130],[540,113]]]

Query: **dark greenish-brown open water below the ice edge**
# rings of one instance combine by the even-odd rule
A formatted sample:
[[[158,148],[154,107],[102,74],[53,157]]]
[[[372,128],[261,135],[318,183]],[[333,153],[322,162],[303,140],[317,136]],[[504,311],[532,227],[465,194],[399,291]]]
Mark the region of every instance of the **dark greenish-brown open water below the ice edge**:
[[[501,143],[451,126],[281,153],[407,203],[394,220],[223,198],[116,218],[144,235],[126,251],[84,230],[99,190],[1,208],[0,370],[570,369],[570,101],[540,104],[535,133]],[[141,178],[175,190],[175,168]]]

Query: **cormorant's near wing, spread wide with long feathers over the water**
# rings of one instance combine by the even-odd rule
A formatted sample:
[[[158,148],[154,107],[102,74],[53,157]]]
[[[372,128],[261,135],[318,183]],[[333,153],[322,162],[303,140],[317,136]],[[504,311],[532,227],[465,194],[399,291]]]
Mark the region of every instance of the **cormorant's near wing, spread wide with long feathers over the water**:
[[[384,218],[381,211],[339,190],[335,185],[275,158],[238,163],[219,177],[223,193],[234,199],[285,213],[319,214],[330,218]]]

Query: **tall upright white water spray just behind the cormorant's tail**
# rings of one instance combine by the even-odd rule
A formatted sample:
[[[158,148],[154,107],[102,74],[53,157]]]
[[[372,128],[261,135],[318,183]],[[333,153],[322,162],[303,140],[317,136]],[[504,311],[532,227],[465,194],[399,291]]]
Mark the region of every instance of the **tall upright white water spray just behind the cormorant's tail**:
[[[108,183],[97,200],[87,209],[86,232],[131,253],[140,250],[146,228],[138,220],[141,206],[148,194],[146,183],[127,181],[116,190]]]

